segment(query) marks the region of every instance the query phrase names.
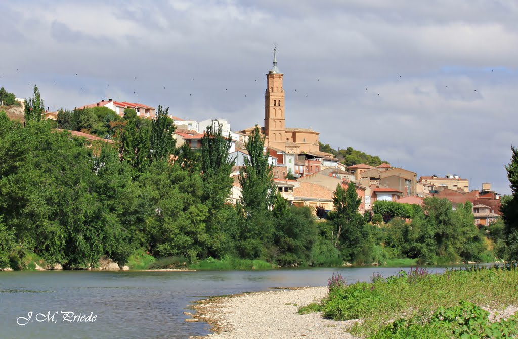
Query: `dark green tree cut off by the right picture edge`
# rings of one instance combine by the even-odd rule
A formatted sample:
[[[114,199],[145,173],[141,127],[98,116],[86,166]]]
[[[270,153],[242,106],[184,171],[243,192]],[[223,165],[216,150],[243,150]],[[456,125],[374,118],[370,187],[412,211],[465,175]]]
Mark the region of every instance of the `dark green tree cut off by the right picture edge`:
[[[502,199],[500,211],[505,224],[507,258],[518,261],[518,149],[511,146],[511,152],[511,162],[506,165],[506,170],[512,195]]]

